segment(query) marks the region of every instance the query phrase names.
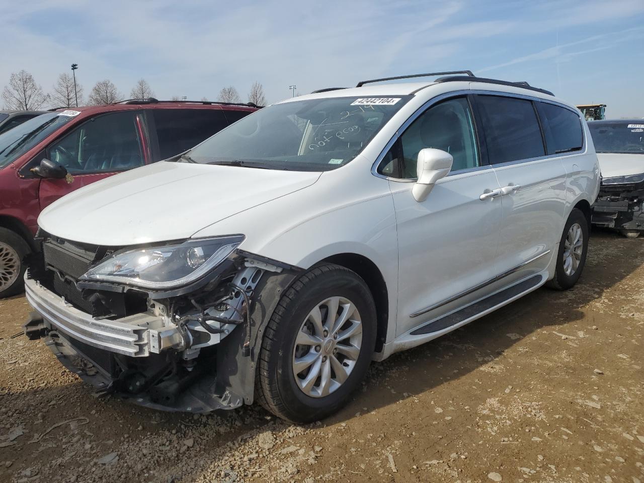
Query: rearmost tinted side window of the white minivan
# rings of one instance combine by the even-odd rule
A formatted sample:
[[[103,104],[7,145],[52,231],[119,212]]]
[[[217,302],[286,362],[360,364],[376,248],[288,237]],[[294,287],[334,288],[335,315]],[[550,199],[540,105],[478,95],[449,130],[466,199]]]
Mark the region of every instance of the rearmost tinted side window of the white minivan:
[[[582,149],[582,120],[576,113],[547,102],[537,102],[536,106],[544,126],[548,154],[569,153]]]

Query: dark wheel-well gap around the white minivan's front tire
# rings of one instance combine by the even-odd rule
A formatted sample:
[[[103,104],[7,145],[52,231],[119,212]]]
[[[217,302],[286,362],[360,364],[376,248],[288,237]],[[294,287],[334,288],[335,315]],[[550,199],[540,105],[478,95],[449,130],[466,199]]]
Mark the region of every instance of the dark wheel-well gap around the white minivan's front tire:
[[[357,253],[338,253],[320,260],[315,265],[335,263],[357,273],[366,283],[374,298],[377,316],[375,352],[383,350],[389,324],[389,292],[384,277],[377,265],[364,255]]]

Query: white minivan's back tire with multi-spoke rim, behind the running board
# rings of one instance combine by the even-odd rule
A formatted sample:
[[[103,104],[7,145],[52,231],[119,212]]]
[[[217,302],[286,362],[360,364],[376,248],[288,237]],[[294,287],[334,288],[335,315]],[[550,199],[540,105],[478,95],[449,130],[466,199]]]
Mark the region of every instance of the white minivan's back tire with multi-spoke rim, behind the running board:
[[[580,234],[582,236],[581,240],[581,253],[576,257],[573,253],[573,257],[570,258],[569,263],[573,263],[573,269],[567,269],[569,265],[566,263],[567,257],[567,238],[569,234],[572,234],[571,230],[574,225],[578,225],[580,229]],[[580,276],[582,276],[583,267],[586,263],[586,255],[588,253],[588,220],[580,209],[573,208],[570,216],[568,217],[567,222],[565,223],[564,232],[562,233],[562,238],[559,243],[559,251],[557,252],[557,262],[556,268],[554,270],[554,278],[547,281],[546,285],[551,289],[556,290],[568,290],[575,283],[577,283]],[[577,266],[574,267],[574,260],[576,260]]]

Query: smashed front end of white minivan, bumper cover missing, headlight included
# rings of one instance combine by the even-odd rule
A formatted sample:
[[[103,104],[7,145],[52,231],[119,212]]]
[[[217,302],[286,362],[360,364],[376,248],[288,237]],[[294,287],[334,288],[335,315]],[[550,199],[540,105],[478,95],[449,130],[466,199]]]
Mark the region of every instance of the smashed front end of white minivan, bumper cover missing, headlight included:
[[[102,393],[196,413],[251,404],[255,347],[299,269],[228,238],[115,249],[40,232],[24,333]]]

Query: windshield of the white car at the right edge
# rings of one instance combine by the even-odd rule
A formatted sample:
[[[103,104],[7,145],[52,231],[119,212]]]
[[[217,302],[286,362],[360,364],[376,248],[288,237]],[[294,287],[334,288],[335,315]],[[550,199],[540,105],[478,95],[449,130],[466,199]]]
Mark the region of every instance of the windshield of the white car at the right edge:
[[[644,120],[634,122],[589,122],[598,153],[644,154]]]

